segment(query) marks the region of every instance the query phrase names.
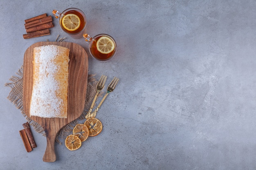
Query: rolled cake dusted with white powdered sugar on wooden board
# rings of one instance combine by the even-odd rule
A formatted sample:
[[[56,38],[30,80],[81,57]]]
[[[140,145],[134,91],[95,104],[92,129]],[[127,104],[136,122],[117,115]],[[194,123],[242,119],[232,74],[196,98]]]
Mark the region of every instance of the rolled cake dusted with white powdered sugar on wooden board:
[[[34,48],[31,116],[67,118],[68,62],[69,49],[65,47]]]

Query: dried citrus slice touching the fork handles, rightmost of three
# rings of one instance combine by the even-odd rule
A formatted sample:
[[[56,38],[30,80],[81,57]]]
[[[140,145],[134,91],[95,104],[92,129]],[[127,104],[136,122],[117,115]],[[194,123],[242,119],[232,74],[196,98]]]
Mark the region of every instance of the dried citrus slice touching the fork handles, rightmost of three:
[[[102,130],[102,124],[101,121],[99,121],[96,118],[90,118],[85,121],[85,126],[87,126],[89,130],[89,136],[96,136],[99,135],[99,133]]]

